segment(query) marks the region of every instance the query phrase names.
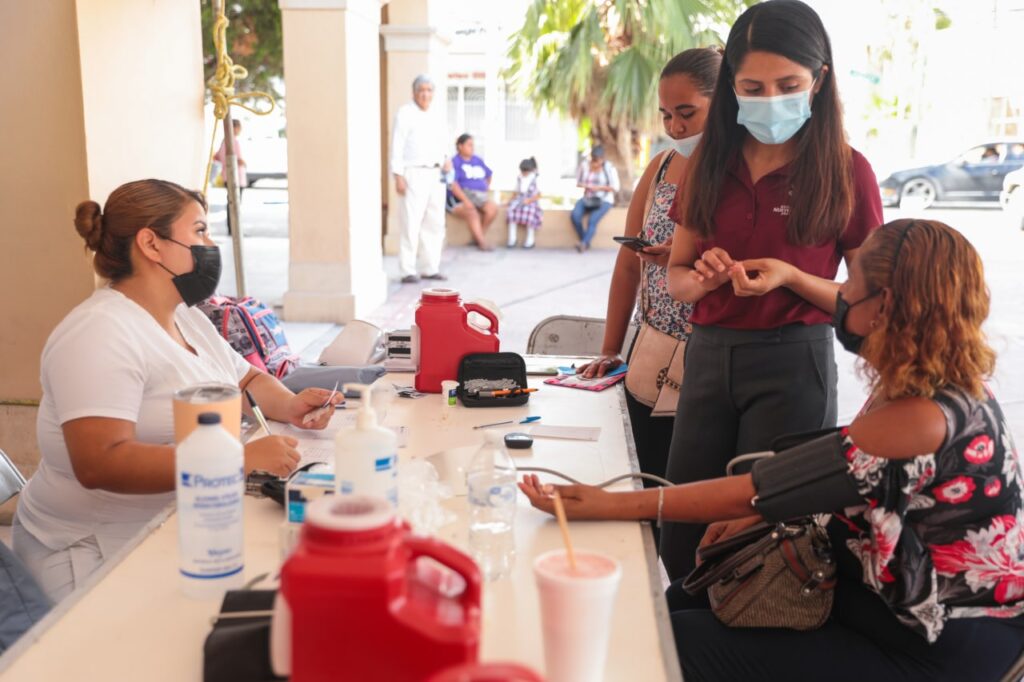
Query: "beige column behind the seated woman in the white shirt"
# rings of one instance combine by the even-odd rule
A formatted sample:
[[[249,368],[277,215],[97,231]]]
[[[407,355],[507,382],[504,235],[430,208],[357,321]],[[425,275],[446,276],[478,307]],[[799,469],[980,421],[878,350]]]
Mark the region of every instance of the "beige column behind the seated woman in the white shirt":
[[[46,338],[96,281],[73,219],[119,184],[203,177],[199,3],[0,2],[0,447],[36,468]],[[0,523],[13,502],[0,508]]]

